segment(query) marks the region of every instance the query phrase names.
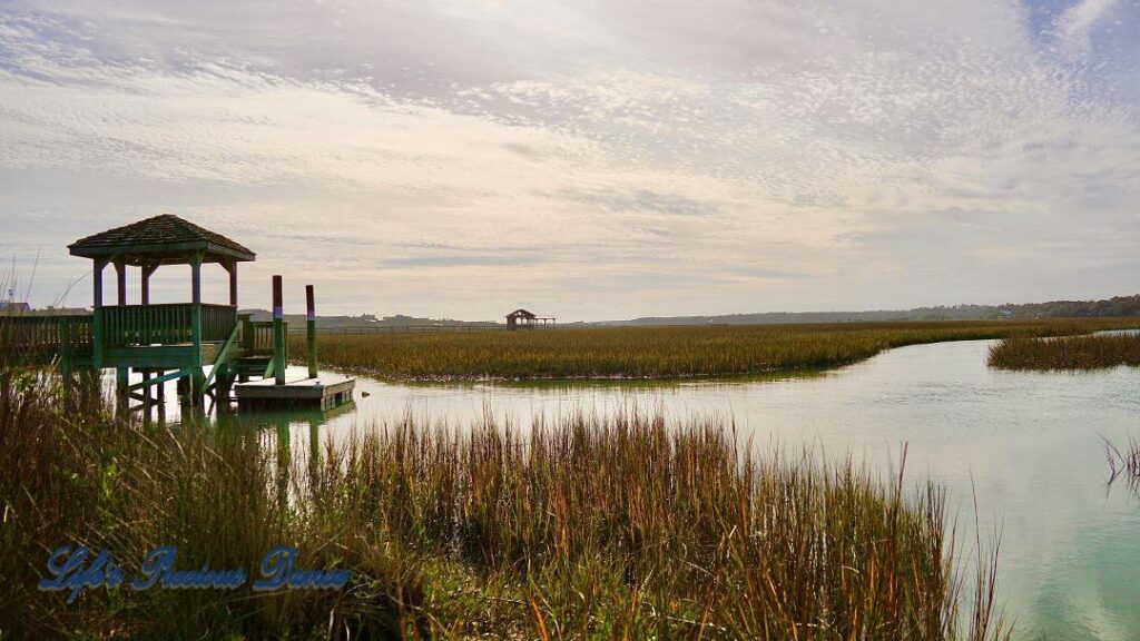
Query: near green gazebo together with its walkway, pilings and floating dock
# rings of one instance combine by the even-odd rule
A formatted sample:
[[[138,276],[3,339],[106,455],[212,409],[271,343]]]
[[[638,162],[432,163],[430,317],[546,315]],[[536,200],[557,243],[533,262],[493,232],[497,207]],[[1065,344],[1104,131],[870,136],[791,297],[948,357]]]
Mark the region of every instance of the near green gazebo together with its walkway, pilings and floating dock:
[[[317,368],[312,285],[306,285],[307,376],[286,379],[288,324],[279,275],[272,279],[272,320],[238,315],[237,263],[255,258],[244,245],[164,214],[88,236],[68,249],[72,255],[95,262],[91,314],[0,315],[5,346],[22,363],[58,364],[64,389],[71,388],[73,372],[113,368],[119,406],[142,409],[147,416],[149,408],[163,405],[165,383],[174,380],[181,399],[195,407],[206,397],[215,403],[236,399],[239,406],[252,408],[323,409],[352,399],[355,379],[321,374]],[[202,302],[202,266],[210,263],[229,274],[229,305]],[[103,273],[108,265],[115,268],[115,305],[103,300]],[[190,302],[152,305],[150,276],[160,267],[178,265],[190,268]],[[138,305],[127,300],[130,267],[140,270]],[[141,380],[131,382],[132,371]],[[132,407],[131,399],[141,405]]]

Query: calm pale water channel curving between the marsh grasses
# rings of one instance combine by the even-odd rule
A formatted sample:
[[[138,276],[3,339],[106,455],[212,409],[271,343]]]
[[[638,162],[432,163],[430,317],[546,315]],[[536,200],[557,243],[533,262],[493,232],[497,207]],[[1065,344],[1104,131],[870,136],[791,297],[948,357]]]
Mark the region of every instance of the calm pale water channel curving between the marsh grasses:
[[[358,380],[355,408],[278,416],[295,452],[407,412],[469,425],[484,412],[605,413],[636,405],[678,419],[732,419],[760,444],[823,447],[945,484],[972,533],[1002,533],[1000,592],[1019,639],[1140,639],[1140,498],[1106,486],[1104,438],[1140,435],[1140,371],[1026,374],[986,367],[988,343],[888,351],[805,378],[671,384],[393,386]],[[367,392],[368,397],[363,397]],[[270,421],[270,422],[274,422]]]

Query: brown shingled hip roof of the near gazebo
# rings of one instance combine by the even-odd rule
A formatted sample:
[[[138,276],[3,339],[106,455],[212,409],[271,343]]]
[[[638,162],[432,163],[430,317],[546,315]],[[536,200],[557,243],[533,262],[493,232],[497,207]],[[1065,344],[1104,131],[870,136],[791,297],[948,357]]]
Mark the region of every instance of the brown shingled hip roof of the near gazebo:
[[[186,263],[196,252],[205,262],[251,261],[256,254],[221,234],[164,213],[75,241],[72,255],[117,257],[127,265]]]

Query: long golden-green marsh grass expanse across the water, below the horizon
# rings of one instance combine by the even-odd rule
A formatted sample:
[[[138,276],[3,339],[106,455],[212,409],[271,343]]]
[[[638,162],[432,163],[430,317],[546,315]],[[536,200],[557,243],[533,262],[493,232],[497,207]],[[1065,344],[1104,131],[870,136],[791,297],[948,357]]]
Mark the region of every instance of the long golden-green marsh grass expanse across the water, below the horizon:
[[[325,334],[323,364],[400,381],[743,376],[848,365],[909,344],[1140,327],[1140,319]],[[293,336],[293,354],[304,354]]]

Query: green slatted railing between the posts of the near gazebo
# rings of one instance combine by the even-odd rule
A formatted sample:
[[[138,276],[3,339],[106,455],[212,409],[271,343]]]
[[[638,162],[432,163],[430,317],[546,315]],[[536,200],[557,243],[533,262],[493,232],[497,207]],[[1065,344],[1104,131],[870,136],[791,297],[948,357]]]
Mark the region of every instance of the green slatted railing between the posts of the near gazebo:
[[[202,342],[228,339],[237,324],[237,308],[201,308]],[[194,303],[112,306],[98,313],[104,348],[194,342]]]

